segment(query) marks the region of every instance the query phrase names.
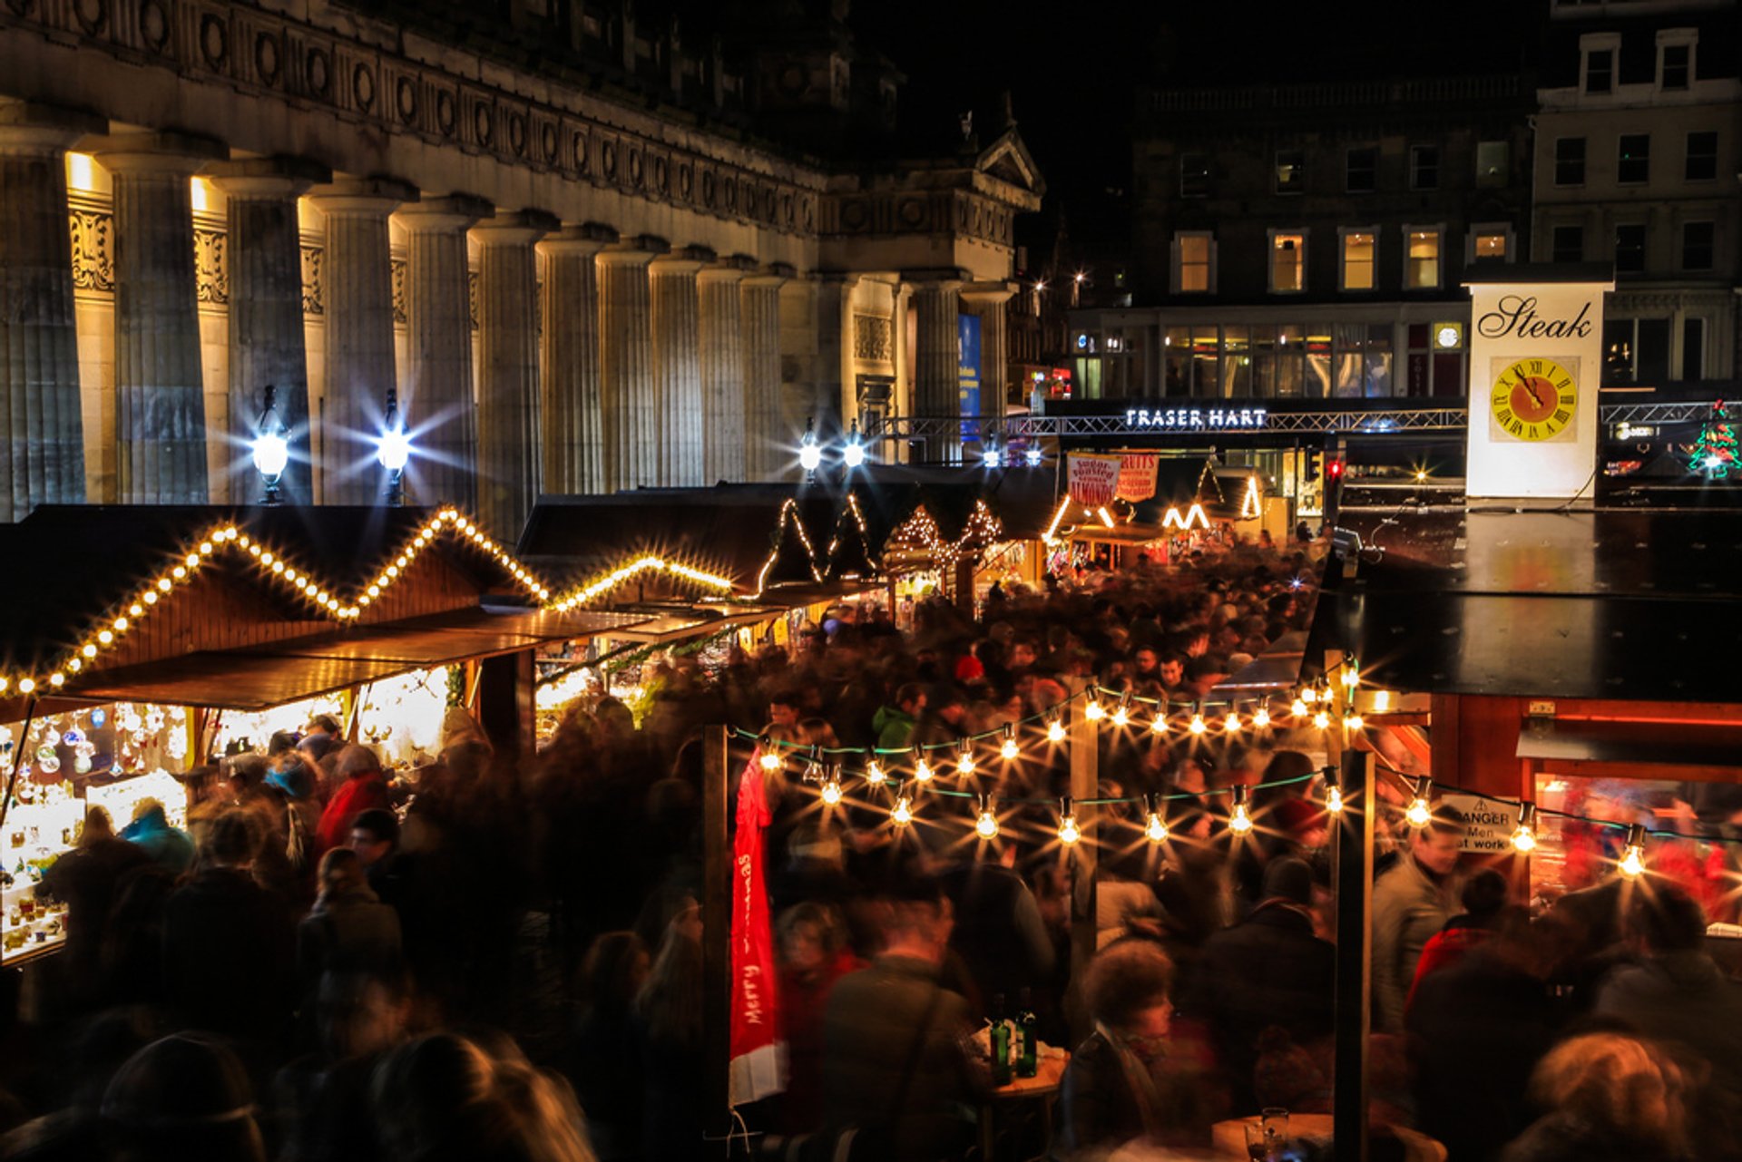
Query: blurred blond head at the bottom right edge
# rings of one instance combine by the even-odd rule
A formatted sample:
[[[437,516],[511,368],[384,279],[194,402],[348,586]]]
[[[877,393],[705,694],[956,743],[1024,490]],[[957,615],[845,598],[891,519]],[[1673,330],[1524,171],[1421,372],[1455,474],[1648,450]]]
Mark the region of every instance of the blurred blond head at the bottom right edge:
[[[1707,1157],[1688,1139],[1681,1070],[1643,1040],[1575,1037],[1542,1059],[1531,1098],[1545,1108],[1500,1162],[1683,1162]]]

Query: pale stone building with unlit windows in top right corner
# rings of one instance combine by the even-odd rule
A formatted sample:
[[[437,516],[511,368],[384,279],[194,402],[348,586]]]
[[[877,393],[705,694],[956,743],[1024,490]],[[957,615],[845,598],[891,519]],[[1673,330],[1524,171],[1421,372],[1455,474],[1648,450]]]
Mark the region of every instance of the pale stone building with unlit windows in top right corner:
[[[1737,376],[1735,0],[1550,0],[1536,261],[1613,261],[1604,385]]]

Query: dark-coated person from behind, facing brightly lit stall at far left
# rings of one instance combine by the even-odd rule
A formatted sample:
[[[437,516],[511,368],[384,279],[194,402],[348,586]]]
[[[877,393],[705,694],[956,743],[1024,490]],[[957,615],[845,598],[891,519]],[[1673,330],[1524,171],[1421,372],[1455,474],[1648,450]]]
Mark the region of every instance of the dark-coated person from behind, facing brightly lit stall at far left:
[[[199,871],[165,908],[164,981],[188,1028],[263,1045],[286,1031],[296,930],[284,901],[249,875],[253,843],[244,812],[213,821]]]

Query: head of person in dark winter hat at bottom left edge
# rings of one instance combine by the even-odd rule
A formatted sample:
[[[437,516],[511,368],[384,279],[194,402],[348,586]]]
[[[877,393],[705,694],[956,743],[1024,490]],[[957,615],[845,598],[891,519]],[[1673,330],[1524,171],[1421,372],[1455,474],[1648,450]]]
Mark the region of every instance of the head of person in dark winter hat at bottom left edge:
[[[113,1162],[265,1162],[247,1071],[204,1033],[155,1040],[103,1092]]]

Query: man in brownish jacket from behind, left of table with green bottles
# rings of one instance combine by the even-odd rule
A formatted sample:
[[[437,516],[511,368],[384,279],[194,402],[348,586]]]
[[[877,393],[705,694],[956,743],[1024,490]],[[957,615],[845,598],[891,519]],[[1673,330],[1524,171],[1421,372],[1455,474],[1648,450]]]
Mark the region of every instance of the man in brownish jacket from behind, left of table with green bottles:
[[[962,1049],[969,1003],[939,983],[953,927],[939,883],[904,878],[883,951],[834,984],[824,1012],[826,1125],[881,1129],[901,1162],[958,1153],[972,1132],[962,1110],[984,1085]]]

